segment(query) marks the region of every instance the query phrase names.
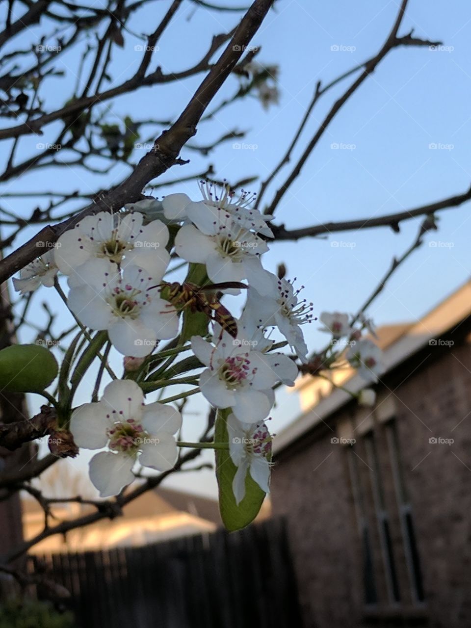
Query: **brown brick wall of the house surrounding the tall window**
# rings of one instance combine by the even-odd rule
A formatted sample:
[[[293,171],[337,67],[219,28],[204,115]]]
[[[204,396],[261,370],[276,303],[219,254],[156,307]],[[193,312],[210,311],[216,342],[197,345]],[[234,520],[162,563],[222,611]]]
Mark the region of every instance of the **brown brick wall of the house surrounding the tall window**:
[[[384,417],[380,420],[376,413],[372,438],[400,592],[396,604],[388,598],[385,564],[391,563],[384,558],[376,518],[372,462],[365,447],[369,437],[362,436],[368,423],[355,423],[358,409],[348,406],[279,454],[272,480],[273,509],[288,519],[306,628],[471,626],[469,328],[468,323],[460,328],[459,342],[455,333],[453,347],[426,347],[385,377],[382,387],[383,396],[394,399],[394,431],[420,556],[424,602],[417,600],[412,585],[410,545],[401,527],[404,519],[399,514],[393,455],[386,438],[393,424],[382,422]],[[364,426],[355,430],[357,442],[351,452],[349,446],[330,441],[345,420]],[[430,443],[430,438],[453,438],[454,442]],[[362,511],[369,523],[376,605],[365,605],[359,504],[349,468],[352,455],[364,490]]]

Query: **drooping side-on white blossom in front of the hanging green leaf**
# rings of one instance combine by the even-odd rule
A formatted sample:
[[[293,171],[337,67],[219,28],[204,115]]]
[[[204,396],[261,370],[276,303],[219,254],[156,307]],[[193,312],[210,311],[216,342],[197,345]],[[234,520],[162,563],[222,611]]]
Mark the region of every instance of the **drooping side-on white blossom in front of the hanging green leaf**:
[[[247,472],[263,492],[269,492],[271,436],[265,423],[242,423],[234,414],[227,418],[230,459],[237,471],[232,491],[239,506],[246,494]]]

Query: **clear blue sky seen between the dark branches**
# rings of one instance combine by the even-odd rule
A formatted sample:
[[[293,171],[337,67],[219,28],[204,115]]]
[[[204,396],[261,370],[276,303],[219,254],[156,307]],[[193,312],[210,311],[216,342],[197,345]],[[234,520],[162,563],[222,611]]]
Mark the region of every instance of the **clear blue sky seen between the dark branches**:
[[[237,0],[224,2],[239,4]],[[150,32],[169,5],[161,0],[151,3],[136,14],[130,29],[136,33]],[[335,6],[318,1],[279,1],[276,11],[269,14],[252,40],[252,45],[261,46],[259,61],[279,63],[279,105],[264,111],[256,99],[238,102],[218,114],[214,121],[200,125],[193,139],[195,143],[207,144],[237,128],[247,131],[244,143],[256,149],[235,149],[229,142],[217,148],[207,160],[183,149],[181,155],[191,158],[191,163],[175,166],[161,180],[202,171],[205,163],[214,164],[219,178],[235,181],[257,175],[263,180],[292,138],[317,80],[328,83],[374,55],[397,11],[398,2],[394,0],[383,3],[341,0]],[[160,40],[160,50],[154,53],[151,69],[157,63],[163,72],[192,65],[207,49],[210,37],[231,28],[236,19],[237,14],[212,13],[183,3]],[[276,210],[276,222],[296,228],[330,220],[372,217],[467,190],[471,183],[470,24],[469,5],[464,0],[454,3],[410,0],[400,34],[414,28],[414,35],[441,40],[445,48],[407,47],[389,53],[335,117]],[[35,32],[28,32],[26,38],[36,42]],[[142,41],[129,33],[124,33],[124,37],[124,50],[114,52],[112,85],[132,75],[140,62],[142,53],[134,50],[134,46]],[[56,65],[75,72],[77,53],[58,57]],[[116,100],[112,111],[118,117],[130,114],[135,119],[173,118],[187,104],[201,79],[202,75],[198,75],[185,82],[141,89],[137,94]],[[352,80],[347,79],[320,99],[299,148],[293,153],[292,163]],[[70,86],[67,80],[51,78],[46,85],[48,89],[43,94],[46,102],[58,105],[65,102]],[[236,89],[237,79],[233,77],[214,104],[230,97]],[[59,125],[51,124],[45,136],[26,138],[19,154],[34,154],[36,144],[51,141],[58,128]],[[332,144],[349,145],[350,149],[335,149]],[[430,144],[438,148],[431,148]],[[140,156],[136,151],[136,161]],[[276,178],[266,200],[271,199],[289,170],[290,166]],[[95,190],[113,185],[126,172],[122,165],[101,177],[78,168],[65,168],[59,176],[57,171],[45,169],[28,173],[21,181],[4,184],[0,192]],[[251,188],[257,191],[257,183]],[[166,187],[159,192],[177,190],[198,198],[196,183]],[[14,198],[1,202],[23,215],[28,215],[36,205]],[[274,244],[266,256],[266,265],[274,270],[279,261],[284,261],[288,275],[296,276],[298,283],[306,286],[305,296],[313,301],[316,314],[322,310],[355,311],[376,286],[393,256],[399,256],[409,246],[418,225],[418,220],[403,223],[399,235],[385,227]],[[425,244],[399,269],[371,306],[369,314],[377,324],[416,320],[468,278],[469,204],[441,212],[439,225],[440,230],[426,235]],[[34,232],[34,228],[25,230],[23,239]],[[51,292],[43,290],[36,297],[33,312],[38,320],[43,316],[41,300],[50,298],[51,304],[59,307]],[[68,324],[63,318],[66,316],[67,312],[63,311],[60,325]],[[317,323],[306,326],[305,331],[311,349],[322,346],[325,337],[318,332]],[[24,340],[28,340],[27,333]],[[294,395],[282,393],[280,397],[279,408],[274,413],[275,431],[298,413]],[[189,406],[192,412],[202,413],[204,409],[204,404],[194,398]],[[188,438],[197,436],[197,424],[201,421],[194,414],[188,416],[187,423],[191,424]],[[202,492],[214,490],[209,472],[194,478],[181,475],[173,484]]]

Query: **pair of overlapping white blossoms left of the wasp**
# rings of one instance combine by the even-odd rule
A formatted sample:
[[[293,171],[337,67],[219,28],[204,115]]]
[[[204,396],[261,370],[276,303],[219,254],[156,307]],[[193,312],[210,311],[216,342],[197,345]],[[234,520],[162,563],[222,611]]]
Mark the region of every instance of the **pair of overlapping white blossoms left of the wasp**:
[[[143,357],[158,340],[174,338],[178,316],[160,298],[170,254],[161,220],[143,226],[143,214],[100,212],[58,240],[55,262],[68,275],[68,306],[92,330],[107,330],[123,355]]]

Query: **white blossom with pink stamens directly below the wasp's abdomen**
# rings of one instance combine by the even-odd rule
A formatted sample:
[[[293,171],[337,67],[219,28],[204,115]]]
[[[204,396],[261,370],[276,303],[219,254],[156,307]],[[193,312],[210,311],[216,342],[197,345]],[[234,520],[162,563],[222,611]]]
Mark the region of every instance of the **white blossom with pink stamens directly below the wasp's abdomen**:
[[[215,346],[200,336],[192,337],[192,350],[207,368],[199,386],[216,408],[232,408],[239,421],[256,423],[268,416],[273,406],[273,386],[279,381],[294,385],[298,369],[283,354],[254,350],[244,338],[226,332],[215,334]]]

